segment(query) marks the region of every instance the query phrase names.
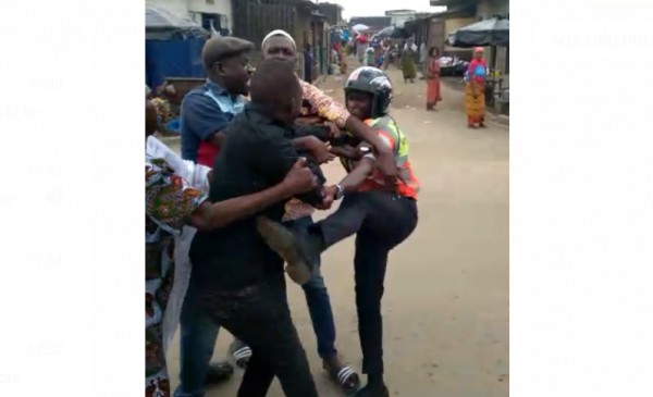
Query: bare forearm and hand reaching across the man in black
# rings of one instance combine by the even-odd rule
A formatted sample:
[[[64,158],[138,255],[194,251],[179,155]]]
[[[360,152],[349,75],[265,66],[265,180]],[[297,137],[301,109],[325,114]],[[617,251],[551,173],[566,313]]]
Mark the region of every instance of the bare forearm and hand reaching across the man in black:
[[[309,191],[318,185],[306,159],[297,160],[284,181],[269,189],[251,195],[211,203],[205,201],[193,212],[188,224],[199,231],[223,227],[238,219],[252,215],[267,207],[295,195]]]

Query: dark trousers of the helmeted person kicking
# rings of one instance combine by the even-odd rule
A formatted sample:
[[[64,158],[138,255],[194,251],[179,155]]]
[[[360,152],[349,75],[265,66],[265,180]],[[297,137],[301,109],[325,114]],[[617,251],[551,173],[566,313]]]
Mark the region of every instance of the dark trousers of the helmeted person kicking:
[[[354,269],[362,372],[383,373],[381,298],[387,256],[417,226],[415,200],[384,191],[345,196],[337,211],[313,225],[326,247],[356,234]]]

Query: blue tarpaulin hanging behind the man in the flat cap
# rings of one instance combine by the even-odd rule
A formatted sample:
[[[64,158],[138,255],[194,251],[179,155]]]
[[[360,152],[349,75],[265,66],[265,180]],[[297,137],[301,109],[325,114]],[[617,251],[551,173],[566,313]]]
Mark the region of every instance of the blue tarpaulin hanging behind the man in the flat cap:
[[[145,40],[146,83],[155,88],[167,77],[205,77],[204,38]]]

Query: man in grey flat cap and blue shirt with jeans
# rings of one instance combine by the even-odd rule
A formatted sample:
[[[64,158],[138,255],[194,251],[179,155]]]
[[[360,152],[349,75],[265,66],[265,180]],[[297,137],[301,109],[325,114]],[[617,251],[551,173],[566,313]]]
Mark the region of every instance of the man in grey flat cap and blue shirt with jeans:
[[[201,59],[207,82],[188,92],[182,101],[182,157],[212,168],[223,131],[244,109],[244,96],[249,91],[249,41],[236,37],[207,40]],[[204,396],[205,382],[215,383],[233,373],[229,362],[209,365],[220,330],[200,309],[193,283],[188,286],[181,317],[181,373],[175,397]],[[232,346],[241,361],[251,355],[242,343]],[[236,357],[237,356],[237,357]],[[239,362],[237,360],[237,362]]]

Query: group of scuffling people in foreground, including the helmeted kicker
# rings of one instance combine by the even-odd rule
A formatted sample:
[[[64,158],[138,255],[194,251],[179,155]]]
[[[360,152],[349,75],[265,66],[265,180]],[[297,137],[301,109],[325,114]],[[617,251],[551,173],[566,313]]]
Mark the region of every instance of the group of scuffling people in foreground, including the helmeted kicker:
[[[210,362],[224,327],[245,368],[239,397],[266,396],[274,377],[288,397],[317,397],[285,272],[304,289],[326,373],[345,394],[386,397],[384,276],[389,252],[417,226],[419,191],[406,136],[389,113],[391,80],[357,69],[343,106],[296,75],[287,33],[263,39],[256,70],[252,49],[235,37],[206,42],[207,80],[181,104],[181,157],[155,136],[161,106],[146,89],[146,396],[171,396],[165,349],[178,322],[174,396],[204,396],[231,375],[229,363]],[[320,165],[335,158],[347,174],[329,183]],[[335,212],[313,222],[335,201]],[[320,272],[321,253],[354,235],[365,386],[336,349]]]

